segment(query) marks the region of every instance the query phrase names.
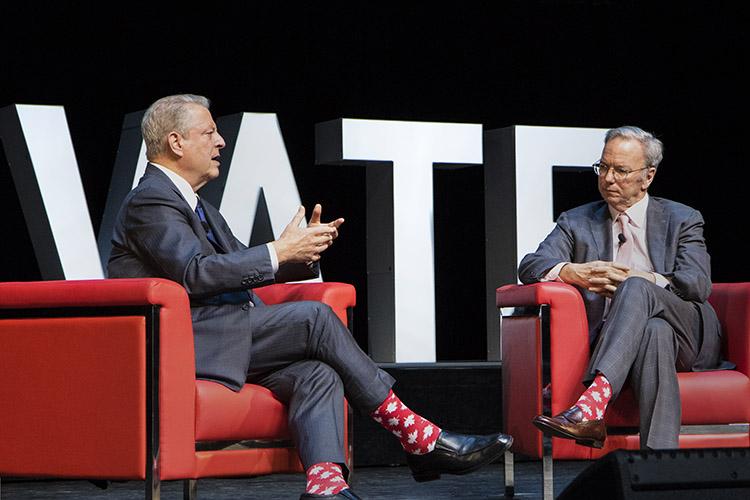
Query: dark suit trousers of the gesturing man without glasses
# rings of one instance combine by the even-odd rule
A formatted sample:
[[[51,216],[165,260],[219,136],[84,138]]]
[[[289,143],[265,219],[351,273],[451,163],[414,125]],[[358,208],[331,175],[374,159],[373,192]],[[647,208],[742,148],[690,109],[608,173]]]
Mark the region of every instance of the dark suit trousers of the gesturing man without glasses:
[[[372,412],[395,382],[320,302],[259,304],[251,312],[248,382],[270,389],[288,407],[289,430],[305,469],[344,463],[344,395]]]

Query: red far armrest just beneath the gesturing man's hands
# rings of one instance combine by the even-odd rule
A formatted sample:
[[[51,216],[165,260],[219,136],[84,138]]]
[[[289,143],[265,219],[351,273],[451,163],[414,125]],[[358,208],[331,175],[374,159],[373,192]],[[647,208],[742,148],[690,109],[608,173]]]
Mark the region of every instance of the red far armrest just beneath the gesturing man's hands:
[[[347,309],[356,305],[356,291],[348,283],[279,283],[253,290],[266,304],[315,300],[327,304],[342,323],[348,324]]]

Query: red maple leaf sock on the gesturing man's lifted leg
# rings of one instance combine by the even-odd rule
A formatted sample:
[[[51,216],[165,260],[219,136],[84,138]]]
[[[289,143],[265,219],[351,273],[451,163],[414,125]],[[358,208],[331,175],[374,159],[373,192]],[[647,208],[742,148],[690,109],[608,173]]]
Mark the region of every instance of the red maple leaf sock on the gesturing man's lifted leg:
[[[412,455],[431,452],[441,432],[440,427],[411,411],[393,391],[370,417],[396,436],[404,451]]]

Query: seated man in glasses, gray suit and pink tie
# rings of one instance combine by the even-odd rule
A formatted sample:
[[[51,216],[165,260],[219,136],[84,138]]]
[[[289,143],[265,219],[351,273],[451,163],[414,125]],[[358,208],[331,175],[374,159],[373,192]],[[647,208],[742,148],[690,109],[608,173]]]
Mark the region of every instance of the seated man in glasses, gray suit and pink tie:
[[[523,283],[576,286],[593,346],[588,389],[543,432],[601,447],[604,412],[629,378],[640,409],[642,448],[678,447],[677,371],[716,368],[721,331],[708,304],[710,258],[701,214],[649,197],[662,143],[638,127],[607,132],[594,164],[604,201],[560,215],[557,226],[519,266]]]

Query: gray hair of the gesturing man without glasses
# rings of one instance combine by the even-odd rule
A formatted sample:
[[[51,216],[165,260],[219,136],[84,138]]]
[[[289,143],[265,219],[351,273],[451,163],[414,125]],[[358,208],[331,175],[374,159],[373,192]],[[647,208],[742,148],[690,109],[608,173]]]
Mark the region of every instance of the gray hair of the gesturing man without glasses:
[[[153,160],[166,153],[167,136],[176,131],[187,133],[189,114],[187,104],[208,109],[210,101],[203,96],[179,94],[162,97],[146,110],[141,120],[141,134],[146,142],[146,158]]]

